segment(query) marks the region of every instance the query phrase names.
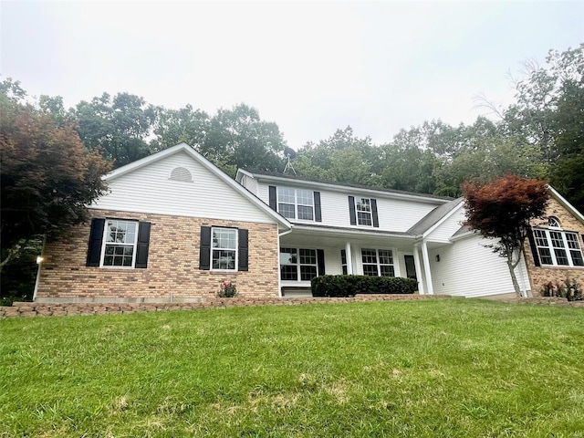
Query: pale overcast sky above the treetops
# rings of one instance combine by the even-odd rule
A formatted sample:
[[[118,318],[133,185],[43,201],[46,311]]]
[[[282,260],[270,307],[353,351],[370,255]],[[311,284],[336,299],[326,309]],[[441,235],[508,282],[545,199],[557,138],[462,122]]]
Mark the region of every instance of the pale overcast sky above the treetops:
[[[424,120],[472,123],[473,97],[584,42],[578,2],[53,2],[0,5],[0,75],[67,107],[127,91],[214,114],[245,102],[289,146],[350,125],[390,141]]]

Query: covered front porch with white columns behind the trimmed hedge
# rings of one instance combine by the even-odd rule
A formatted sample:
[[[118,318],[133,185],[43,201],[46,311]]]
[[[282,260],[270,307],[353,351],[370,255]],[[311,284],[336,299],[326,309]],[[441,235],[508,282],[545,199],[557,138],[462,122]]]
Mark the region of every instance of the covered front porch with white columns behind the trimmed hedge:
[[[428,248],[405,233],[297,225],[280,235],[279,255],[284,297],[309,296],[314,276],[343,274],[414,278],[433,294]]]

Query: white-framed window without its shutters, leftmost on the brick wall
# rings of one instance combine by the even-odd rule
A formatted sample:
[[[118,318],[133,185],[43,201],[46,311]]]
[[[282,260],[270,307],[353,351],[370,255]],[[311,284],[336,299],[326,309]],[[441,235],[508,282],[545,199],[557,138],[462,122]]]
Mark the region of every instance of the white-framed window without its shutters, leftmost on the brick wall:
[[[107,219],[103,231],[100,266],[133,267],[137,240],[137,221]]]

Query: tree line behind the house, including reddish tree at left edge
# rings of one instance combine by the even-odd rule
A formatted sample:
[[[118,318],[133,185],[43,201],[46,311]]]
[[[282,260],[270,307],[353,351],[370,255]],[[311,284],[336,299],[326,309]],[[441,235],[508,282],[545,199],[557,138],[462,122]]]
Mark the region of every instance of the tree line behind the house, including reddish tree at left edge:
[[[584,211],[584,43],[550,50],[541,66],[525,63],[513,85],[515,101],[506,108],[478,99],[490,118],[458,126],[427,120],[384,144],[346,127],[302,145],[294,167],[308,178],[453,197],[464,182],[515,174],[547,180]],[[276,122],[245,104],[210,115],[120,92],[66,110],[61,97],[30,99],[6,78],[0,116],[3,264],[14,248],[26,248],[27,236],[82,221],[83,205],[105,190],[99,174],[180,142],[231,176],[237,168],[282,172],[285,165],[287,142]]]

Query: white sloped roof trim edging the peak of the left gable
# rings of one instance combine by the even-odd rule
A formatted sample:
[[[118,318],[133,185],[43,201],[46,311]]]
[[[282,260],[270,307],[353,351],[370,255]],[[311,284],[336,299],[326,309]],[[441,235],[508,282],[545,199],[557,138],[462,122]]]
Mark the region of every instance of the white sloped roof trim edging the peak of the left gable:
[[[272,210],[269,205],[262,202],[254,193],[249,192],[245,187],[239,183],[236,183],[233,178],[215,166],[212,162],[209,162],[206,158],[203,157],[199,152],[195,151],[191,146],[186,143],[180,143],[176,146],[172,146],[172,148],[165,149],[163,151],[159,151],[149,155],[148,157],[144,157],[141,160],[136,162],[130,162],[125,166],[122,166],[102,177],[102,179],[106,182],[111,182],[120,178],[120,176],[128,174],[130,172],[135,172],[145,166],[153,162],[158,162],[165,158],[168,158],[176,153],[186,153],[189,157],[191,157],[195,162],[201,164],[204,169],[209,172],[212,172],[217,178],[221,181],[226,183],[230,188],[232,188],[236,193],[239,193],[245,200],[252,203],[257,207],[259,210],[263,211],[265,214],[274,218],[278,225],[282,225],[284,228],[291,229],[292,224],[290,224],[287,219],[282,216],[281,214],[276,213]]]

